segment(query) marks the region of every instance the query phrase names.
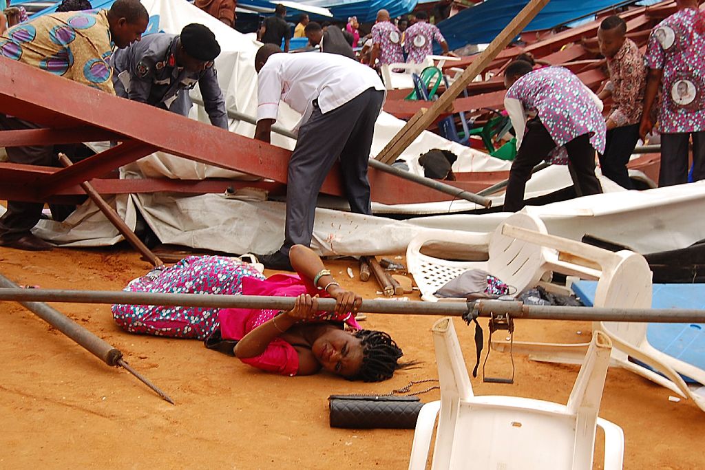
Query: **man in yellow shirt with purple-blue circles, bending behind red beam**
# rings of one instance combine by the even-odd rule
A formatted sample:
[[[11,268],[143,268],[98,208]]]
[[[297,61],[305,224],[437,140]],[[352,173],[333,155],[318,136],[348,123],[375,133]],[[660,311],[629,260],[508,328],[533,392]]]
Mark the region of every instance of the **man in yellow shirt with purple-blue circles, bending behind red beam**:
[[[0,37],[0,61],[13,59],[69,80],[114,94],[107,60],[111,42],[128,47],[147,29],[149,14],[139,0],[117,0],[110,11],[68,12],[40,16],[11,27]],[[86,92],[89,92],[86,89]],[[0,130],[37,129],[25,120],[0,114]],[[13,163],[59,166],[54,146],[8,147]],[[32,251],[51,245],[32,235],[44,204],[8,201],[0,217],[0,245]]]

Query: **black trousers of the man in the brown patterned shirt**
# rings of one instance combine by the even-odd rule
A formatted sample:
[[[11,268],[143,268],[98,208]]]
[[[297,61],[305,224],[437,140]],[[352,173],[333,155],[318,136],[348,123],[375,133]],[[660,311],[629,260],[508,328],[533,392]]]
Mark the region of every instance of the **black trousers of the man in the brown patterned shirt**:
[[[627,190],[634,185],[629,179],[627,163],[639,141],[639,124],[625,125],[607,131],[605,153],[599,155],[602,174]]]

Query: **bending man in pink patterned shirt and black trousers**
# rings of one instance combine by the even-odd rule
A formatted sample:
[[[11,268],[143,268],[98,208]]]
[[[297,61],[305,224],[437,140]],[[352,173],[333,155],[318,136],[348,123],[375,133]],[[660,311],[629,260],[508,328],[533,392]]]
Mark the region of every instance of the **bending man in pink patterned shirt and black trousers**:
[[[522,209],[526,183],[541,160],[567,164],[579,197],[601,193],[595,150],[605,149],[602,101],[567,68],[534,70],[525,61],[509,64],[504,86],[504,107],[517,135],[504,210]],[[536,117],[527,122],[529,113]]]

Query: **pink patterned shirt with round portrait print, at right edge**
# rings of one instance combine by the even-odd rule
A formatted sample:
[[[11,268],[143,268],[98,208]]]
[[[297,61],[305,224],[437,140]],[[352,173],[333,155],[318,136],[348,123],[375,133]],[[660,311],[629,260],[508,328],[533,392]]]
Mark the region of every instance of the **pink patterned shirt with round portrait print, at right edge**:
[[[686,8],[649,36],[646,67],[663,70],[661,133],[705,130],[705,12]]]

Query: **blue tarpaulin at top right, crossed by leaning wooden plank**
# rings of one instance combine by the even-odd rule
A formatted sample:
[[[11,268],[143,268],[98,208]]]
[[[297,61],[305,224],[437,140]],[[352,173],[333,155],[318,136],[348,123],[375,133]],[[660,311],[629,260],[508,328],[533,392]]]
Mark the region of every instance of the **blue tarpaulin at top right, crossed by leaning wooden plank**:
[[[529,0],[486,0],[478,6],[467,8],[438,27],[446,37],[450,49],[458,49],[467,44],[491,42]],[[551,0],[532,20],[525,31],[546,30],[575,18],[603,10],[615,4],[615,0]]]

